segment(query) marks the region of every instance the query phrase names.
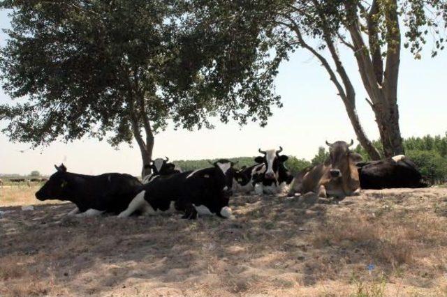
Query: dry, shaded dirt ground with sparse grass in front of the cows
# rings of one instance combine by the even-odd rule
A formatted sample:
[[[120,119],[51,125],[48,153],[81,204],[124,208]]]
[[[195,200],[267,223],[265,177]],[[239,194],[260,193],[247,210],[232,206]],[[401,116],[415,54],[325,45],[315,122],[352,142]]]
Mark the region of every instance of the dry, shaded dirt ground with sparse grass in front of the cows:
[[[69,218],[2,190],[0,296],[447,296],[446,188],[237,196],[233,220]]]

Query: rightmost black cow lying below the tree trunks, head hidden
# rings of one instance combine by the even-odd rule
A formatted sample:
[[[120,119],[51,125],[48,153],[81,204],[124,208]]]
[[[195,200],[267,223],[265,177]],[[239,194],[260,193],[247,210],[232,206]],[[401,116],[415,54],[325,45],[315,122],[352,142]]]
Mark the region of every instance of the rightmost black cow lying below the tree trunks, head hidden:
[[[358,164],[360,188],[425,188],[418,167],[405,155]]]

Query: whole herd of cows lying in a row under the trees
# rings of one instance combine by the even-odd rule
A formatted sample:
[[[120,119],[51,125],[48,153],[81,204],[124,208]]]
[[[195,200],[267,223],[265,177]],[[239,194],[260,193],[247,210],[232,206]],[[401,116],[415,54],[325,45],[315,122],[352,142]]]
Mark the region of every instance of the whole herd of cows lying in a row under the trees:
[[[422,176],[416,165],[404,155],[385,160],[362,162],[351,144],[335,142],[323,164],[292,176],[284,162],[287,155],[279,150],[261,151],[251,167],[235,168],[229,160],[218,160],[210,167],[181,172],[166,159],[151,162],[152,174],[142,183],[129,174],[108,173],[88,176],[67,172],[64,165],[54,165],[57,172],[36,192],[39,200],[71,201],[76,208],[68,213],[78,217],[113,213],[120,218],[133,214],[180,211],[182,218],[217,215],[230,218],[233,192],[256,192],[258,195],[286,192],[293,197],[313,192],[318,197],[358,195],[362,189],[422,188]]]

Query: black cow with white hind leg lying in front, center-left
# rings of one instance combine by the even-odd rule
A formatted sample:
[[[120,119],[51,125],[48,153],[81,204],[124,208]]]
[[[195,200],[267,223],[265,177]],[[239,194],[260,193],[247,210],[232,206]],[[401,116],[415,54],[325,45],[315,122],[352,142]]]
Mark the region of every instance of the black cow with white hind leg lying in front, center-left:
[[[184,219],[196,219],[198,214],[230,218],[228,202],[233,194],[233,165],[228,160],[218,160],[209,168],[155,178],[142,186],[118,217],[129,217],[135,211],[153,215],[176,210],[184,212]]]

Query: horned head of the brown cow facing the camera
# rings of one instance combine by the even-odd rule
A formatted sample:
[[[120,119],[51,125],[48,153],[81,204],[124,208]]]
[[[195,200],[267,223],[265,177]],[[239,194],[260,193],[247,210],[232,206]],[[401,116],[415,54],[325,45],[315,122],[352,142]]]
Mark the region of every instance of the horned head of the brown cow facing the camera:
[[[349,148],[354,144],[347,144],[343,141],[334,142],[333,144],[326,142],[329,146],[329,158],[326,163],[330,162],[330,177],[333,179],[342,178],[343,174],[349,174],[351,164],[360,162],[361,156],[353,153]],[[329,164],[327,164],[329,165]]]

